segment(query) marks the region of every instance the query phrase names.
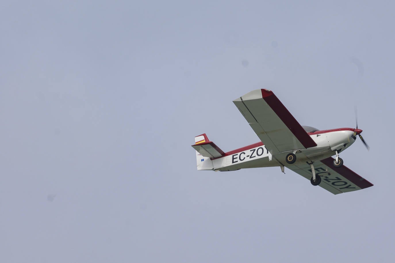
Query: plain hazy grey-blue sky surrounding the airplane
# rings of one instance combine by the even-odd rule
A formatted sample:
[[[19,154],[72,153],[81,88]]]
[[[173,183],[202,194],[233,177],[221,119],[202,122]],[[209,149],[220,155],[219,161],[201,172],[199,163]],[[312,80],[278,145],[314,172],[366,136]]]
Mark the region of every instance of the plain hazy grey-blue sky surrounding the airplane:
[[[2,1],[0,262],[389,262],[394,4]],[[359,128],[333,195],[280,168],[196,171],[259,139],[232,100]]]

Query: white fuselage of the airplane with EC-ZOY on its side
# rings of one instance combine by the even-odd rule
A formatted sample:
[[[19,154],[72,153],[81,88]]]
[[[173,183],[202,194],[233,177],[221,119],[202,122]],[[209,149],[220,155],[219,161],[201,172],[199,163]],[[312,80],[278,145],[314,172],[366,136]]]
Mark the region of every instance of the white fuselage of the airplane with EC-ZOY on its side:
[[[314,162],[335,155],[335,151],[338,153],[344,151],[355,142],[354,131],[348,128],[313,132],[310,133],[310,137],[317,146],[307,149],[293,149],[273,156],[260,143],[240,148],[227,153],[224,157],[213,159],[213,170],[232,171],[241,168],[293,165],[287,164],[285,161],[288,153],[295,153],[296,164]]]

